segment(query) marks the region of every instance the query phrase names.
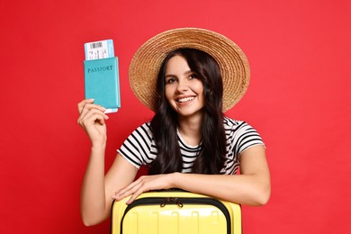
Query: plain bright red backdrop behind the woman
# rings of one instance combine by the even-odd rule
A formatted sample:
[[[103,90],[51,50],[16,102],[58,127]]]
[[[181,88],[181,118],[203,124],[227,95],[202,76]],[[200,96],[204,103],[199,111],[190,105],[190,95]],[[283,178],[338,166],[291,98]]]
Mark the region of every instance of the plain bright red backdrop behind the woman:
[[[351,2],[348,0],[2,1],[0,233],[108,233],[86,228],[80,184],[89,140],[76,124],[85,42],[113,39],[121,110],[108,121],[107,164],[152,116],[128,83],[130,58],[184,26],[236,41],[251,66],[227,114],[266,142],[272,197],[243,207],[245,233],[350,233]]]

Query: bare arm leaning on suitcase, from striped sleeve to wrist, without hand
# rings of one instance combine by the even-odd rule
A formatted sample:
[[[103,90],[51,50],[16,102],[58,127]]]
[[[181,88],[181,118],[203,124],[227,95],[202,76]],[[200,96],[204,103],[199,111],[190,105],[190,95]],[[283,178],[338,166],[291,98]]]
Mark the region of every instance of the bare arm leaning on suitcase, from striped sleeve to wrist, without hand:
[[[265,148],[254,146],[241,154],[240,175],[175,175],[175,187],[229,202],[264,205],[271,193]]]

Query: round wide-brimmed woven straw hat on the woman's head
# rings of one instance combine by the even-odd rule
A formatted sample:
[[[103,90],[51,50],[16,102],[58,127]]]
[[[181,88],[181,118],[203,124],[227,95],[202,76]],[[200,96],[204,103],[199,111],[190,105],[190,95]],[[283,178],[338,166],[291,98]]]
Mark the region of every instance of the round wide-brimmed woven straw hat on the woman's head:
[[[166,55],[180,48],[200,49],[217,61],[223,81],[223,112],[238,103],[250,78],[245,54],[220,33],[198,28],[161,32],[137,50],[130,62],[129,76],[130,87],[141,103],[155,112],[158,70]]]

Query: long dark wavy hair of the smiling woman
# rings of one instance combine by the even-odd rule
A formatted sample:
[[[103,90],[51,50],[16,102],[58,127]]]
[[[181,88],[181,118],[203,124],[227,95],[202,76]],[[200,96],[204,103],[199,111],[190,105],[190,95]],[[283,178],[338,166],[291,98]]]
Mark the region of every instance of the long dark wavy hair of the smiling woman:
[[[181,172],[183,160],[177,139],[177,113],[165,96],[166,64],[175,55],[186,59],[190,69],[199,76],[205,99],[202,108],[201,151],[196,157],[192,172],[220,174],[225,162],[226,138],[223,127],[223,85],[220,67],[209,54],[199,49],[176,49],[164,59],[157,76],[156,113],[151,130],[157,147],[157,157],[149,165],[150,175]]]

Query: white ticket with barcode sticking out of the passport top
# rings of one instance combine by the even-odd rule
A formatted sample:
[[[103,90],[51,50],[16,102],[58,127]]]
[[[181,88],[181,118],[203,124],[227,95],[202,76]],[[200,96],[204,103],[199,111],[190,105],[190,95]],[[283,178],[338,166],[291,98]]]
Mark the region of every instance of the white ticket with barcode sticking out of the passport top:
[[[114,57],[113,40],[99,40],[87,42],[85,47],[85,60]]]

